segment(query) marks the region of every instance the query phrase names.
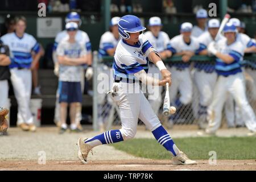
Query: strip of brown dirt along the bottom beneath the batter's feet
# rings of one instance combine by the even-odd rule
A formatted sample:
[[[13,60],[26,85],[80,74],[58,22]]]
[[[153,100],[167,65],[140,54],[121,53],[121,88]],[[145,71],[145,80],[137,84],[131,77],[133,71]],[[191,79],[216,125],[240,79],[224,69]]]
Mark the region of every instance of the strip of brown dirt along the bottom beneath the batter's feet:
[[[198,160],[197,165],[175,166],[170,160],[92,160],[88,164],[76,161],[51,160],[38,164],[35,160],[5,160],[0,170],[67,170],[67,171],[175,171],[175,170],[256,170],[256,160],[217,160],[209,165],[208,160]]]

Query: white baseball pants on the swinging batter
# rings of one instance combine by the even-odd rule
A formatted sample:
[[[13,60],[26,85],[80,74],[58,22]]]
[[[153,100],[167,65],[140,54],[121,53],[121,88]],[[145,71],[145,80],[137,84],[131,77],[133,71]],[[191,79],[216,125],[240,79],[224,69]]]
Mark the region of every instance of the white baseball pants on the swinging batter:
[[[114,86],[117,86],[118,91],[110,94],[119,107],[122,122],[122,129],[120,131],[124,140],[135,136],[138,119],[141,119],[150,131],[155,130],[161,125],[158,117],[156,117],[149,102],[139,88],[138,82],[127,84],[121,81],[114,83]]]

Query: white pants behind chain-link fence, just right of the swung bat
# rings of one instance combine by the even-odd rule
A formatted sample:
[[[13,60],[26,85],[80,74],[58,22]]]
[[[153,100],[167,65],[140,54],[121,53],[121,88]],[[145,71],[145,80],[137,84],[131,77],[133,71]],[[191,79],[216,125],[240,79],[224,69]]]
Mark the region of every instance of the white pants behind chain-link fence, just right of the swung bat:
[[[174,102],[177,96],[178,90],[180,91],[180,102],[187,105],[192,100],[192,80],[189,68],[185,68],[182,71],[177,70],[175,67],[168,67],[167,69],[172,73],[172,84],[170,87],[170,101]]]

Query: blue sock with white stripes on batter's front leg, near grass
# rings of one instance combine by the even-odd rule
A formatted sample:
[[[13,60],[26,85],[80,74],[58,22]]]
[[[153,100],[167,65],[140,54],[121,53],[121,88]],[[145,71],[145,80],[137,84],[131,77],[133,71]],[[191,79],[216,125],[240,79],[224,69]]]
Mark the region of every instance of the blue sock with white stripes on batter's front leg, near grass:
[[[158,143],[162,144],[162,146],[170,151],[172,155],[176,156],[179,154],[179,148],[176,147],[176,144],[162,125],[152,131],[152,133],[155,139],[158,140]]]

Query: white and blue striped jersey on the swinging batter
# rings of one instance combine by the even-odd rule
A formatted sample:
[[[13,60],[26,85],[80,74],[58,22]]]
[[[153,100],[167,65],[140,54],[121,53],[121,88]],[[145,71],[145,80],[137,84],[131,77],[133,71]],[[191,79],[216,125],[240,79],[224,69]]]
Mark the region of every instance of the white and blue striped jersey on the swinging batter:
[[[115,49],[115,55],[113,60],[113,70],[114,78],[116,80],[120,78],[126,78],[130,80],[138,80],[134,76],[134,73],[137,73],[144,69],[148,71],[148,55],[152,45],[146,39],[146,36],[141,34],[139,35],[138,42],[131,46],[127,44],[125,40],[120,40],[117,49]]]

